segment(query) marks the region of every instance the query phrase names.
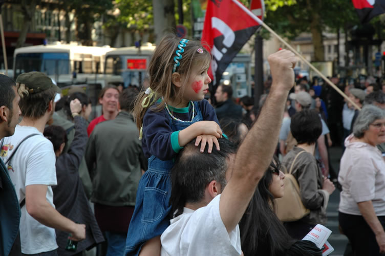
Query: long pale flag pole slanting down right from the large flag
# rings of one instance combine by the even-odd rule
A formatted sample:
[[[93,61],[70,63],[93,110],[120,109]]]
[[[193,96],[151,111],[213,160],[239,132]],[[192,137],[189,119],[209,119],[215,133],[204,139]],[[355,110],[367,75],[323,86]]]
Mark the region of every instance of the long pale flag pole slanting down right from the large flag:
[[[242,8],[245,12],[247,12],[250,17],[252,17],[256,22],[261,24],[262,27],[267,29],[271,34],[273,34],[276,38],[278,38],[283,44],[290,50],[292,51],[295,55],[297,55],[302,61],[304,61],[312,70],[315,71],[320,77],[322,77],[329,85],[336,90],[341,96],[343,96],[346,100],[348,100],[354,108],[357,110],[361,110],[361,108],[351,99],[346,95],[343,91],[341,91],[332,81],[330,81],[324,74],[322,74],[319,70],[317,70],[307,59],[305,59],[300,53],[294,50],[281,36],[279,36],[277,33],[274,32],[269,26],[267,26],[259,17],[255,16],[249,9],[244,7],[238,0],[232,0],[234,3],[236,3],[240,8]]]

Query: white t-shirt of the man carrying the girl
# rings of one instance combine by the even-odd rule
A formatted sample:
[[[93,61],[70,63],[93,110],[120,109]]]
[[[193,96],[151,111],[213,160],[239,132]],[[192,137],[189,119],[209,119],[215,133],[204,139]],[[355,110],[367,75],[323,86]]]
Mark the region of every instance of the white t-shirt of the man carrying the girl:
[[[184,208],[172,219],[160,237],[161,256],[241,255],[241,237],[237,225],[227,232],[219,212],[220,196],[197,210]]]

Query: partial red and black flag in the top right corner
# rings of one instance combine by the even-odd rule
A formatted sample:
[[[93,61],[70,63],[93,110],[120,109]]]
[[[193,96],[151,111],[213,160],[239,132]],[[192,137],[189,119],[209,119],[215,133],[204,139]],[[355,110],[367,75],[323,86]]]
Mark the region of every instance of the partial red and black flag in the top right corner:
[[[361,23],[368,23],[372,18],[385,13],[385,0],[352,0]]]

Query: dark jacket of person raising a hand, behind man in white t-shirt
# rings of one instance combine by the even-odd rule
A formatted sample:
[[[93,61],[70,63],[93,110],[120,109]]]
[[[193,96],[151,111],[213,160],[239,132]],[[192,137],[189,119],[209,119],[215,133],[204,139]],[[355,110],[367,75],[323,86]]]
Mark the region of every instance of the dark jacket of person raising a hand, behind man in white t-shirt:
[[[87,121],[80,116],[74,118],[75,136],[67,153],[56,159],[57,186],[52,187],[53,202],[61,215],[85,224],[85,240],[78,242],[75,252],[66,251],[68,233],[56,229],[59,255],[73,255],[104,241],[79,178],[79,165],[87,145]]]

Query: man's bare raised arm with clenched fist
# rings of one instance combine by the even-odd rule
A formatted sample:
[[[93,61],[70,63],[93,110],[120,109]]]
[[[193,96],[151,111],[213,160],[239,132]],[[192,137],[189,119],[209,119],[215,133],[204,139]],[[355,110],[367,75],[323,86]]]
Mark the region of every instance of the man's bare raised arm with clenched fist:
[[[282,124],[289,90],[294,84],[297,58],[287,50],[269,56],[273,83],[256,123],[241,144],[233,173],[221,195],[219,209],[227,231],[241,220],[256,185],[269,166]]]

